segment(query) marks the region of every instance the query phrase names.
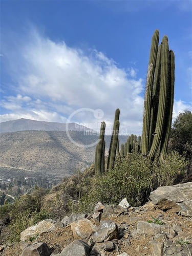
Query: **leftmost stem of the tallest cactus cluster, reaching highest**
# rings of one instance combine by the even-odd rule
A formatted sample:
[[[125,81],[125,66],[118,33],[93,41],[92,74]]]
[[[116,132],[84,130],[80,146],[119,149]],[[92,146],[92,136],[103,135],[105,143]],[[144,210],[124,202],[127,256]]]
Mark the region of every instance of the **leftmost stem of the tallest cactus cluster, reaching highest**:
[[[156,67],[156,59],[159,44],[159,30],[156,30],[152,37],[152,46],[150,51],[150,61],[148,63],[148,71],[146,78],[144,113],[143,113],[143,135],[142,135],[142,154],[146,156],[149,151],[150,121],[152,108],[152,90],[154,82],[154,74]]]

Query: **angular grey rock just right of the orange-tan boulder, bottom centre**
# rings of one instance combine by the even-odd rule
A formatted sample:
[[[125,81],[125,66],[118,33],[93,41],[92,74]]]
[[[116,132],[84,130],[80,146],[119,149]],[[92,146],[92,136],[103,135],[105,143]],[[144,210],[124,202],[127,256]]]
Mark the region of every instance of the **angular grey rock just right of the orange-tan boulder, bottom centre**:
[[[92,236],[94,242],[103,242],[118,237],[117,225],[113,221],[102,221]]]

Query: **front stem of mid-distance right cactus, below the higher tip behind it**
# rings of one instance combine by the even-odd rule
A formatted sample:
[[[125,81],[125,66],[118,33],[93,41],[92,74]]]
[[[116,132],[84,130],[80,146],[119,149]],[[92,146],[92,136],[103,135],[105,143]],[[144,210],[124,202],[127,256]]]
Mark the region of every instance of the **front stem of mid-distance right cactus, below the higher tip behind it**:
[[[113,134],[113,143],[112,143],[112,147],[111,147],[111,158],[110,158],[110,162],[109,162],[109,170],[112,170],[114,168],[118,136],[119,136],[119,120],[116,120],[114,123],[114,134]]]

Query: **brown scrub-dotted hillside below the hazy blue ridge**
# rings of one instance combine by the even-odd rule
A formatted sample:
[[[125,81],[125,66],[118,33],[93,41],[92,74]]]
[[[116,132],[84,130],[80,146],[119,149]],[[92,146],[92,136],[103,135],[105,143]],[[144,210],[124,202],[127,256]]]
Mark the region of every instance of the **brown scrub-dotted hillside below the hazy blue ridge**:
[[[83,132],[71,131],[70,135],[81,145],[94,143],[98,139],[97,135],[84,136]],[[105,137],[106,150],[109,148],[110,138],[111,136]],[[120,136],[120,141],[125,141],[126,138]],[[70,176],[75,170],[87,167],[95,156],[95,146],[78,147],[62,131],[2,133],[0,143],[1,166],[45,172],[56,177]]]

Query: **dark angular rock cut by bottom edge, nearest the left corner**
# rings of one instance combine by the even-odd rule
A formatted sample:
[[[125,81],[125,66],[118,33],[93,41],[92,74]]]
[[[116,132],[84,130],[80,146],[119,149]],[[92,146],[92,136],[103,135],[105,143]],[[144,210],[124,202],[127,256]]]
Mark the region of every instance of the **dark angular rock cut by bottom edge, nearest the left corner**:
[[[45,243],[36,243],[30,246],[27,246],[21,256],[49,256],[51,250]]]

